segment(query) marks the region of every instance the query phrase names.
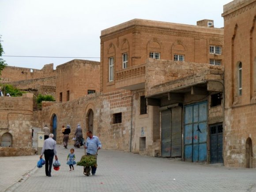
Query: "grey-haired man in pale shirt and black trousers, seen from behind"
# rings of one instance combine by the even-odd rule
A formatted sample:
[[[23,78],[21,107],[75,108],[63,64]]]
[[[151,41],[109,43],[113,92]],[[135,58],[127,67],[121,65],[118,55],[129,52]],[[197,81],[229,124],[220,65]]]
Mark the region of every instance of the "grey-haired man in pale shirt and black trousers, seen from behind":
[[[40,159],[43,154],[45,154],[45,174],[48,177],[52,177],[52,165],[53,165],[53,157],[55,155],[55,160],[58,160],[57,151],[56,151],[56,141],[53,140],[53,134],[49,135],[48,139],[45,139],[42,152],[40,155]]]

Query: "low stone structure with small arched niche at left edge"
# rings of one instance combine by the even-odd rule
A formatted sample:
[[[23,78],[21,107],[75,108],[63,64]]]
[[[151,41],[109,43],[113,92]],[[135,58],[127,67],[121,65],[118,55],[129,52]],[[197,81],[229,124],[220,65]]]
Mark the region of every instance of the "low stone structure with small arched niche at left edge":
[[[0,156],[32,155],[33,94],[0,98]]]

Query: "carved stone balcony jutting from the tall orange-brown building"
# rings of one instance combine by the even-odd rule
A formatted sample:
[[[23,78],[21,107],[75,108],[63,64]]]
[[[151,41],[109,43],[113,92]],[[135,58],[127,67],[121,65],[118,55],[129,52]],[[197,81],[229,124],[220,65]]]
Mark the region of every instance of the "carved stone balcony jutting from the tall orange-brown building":
[[[145,64],[119,70],[115,75],[117,89],[138,90],[145,88]]]

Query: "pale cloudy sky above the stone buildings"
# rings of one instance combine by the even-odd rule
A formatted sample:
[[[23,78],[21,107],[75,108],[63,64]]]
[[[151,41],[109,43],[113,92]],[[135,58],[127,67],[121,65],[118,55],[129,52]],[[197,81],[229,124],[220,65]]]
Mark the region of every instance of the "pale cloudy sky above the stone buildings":
[[[188,25],[212,19],[220,28],[223,5],[231,1],[0,0],[2,59],[33,69],[51,63],[56,69],[75,58],[100,61],[101,30],[132,19]]]

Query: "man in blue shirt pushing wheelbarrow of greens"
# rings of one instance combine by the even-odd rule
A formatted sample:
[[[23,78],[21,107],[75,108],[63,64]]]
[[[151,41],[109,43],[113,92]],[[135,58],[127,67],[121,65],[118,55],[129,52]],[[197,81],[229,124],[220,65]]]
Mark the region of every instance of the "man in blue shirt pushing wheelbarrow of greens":
[[[97,136],[94,136],[91,131],[87,131],[87,139],[84,148],[87,149],[86,154],[97,154],[97,151],[102,148],[102,143]],[[97,167],[91,167],[91,174],[95,175]]]

